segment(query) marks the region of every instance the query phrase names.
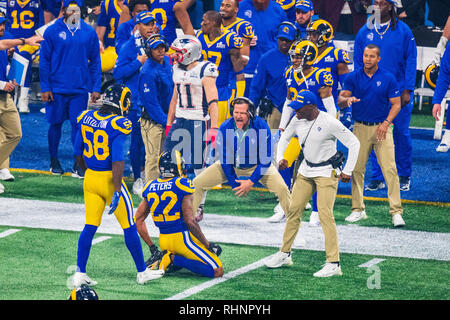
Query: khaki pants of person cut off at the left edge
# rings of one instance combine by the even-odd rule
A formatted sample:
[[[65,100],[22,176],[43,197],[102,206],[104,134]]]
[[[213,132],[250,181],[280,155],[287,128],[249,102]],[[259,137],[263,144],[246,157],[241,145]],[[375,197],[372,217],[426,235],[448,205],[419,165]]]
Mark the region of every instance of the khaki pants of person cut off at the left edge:
[[[22,139],[22,125],[11,95],[0,93],[0,163],[7,160]]]

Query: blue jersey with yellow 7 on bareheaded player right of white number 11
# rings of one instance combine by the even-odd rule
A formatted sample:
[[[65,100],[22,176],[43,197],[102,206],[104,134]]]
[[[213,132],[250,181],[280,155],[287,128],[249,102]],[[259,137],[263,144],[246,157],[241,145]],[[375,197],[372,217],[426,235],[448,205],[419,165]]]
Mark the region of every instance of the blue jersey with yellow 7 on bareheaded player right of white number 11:
[[[197,32],[197,38],[202,43],[203,60],[211,61],[217,66],[219,76],[216,79],[218,88],[227,87],[230,81],[236,82],[236,75],[229,52],[231,49],[241,49],[243,40],[236,33],[223,30],[216,39],[208,39],[202,31]]]

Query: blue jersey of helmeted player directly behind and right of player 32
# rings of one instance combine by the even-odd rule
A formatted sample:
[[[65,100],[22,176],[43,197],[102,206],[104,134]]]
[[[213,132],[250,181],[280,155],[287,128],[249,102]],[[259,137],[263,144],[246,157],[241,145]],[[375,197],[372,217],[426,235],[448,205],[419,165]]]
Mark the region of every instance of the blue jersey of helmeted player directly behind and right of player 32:
[[[325,69],[330,72],[333,76],[333,98],[334,102],[337,104],[338,98],[338,64],[345,63],[350,64],[350,58],[348,52],[339,48],[330,46],[319,55],[314,62],[314,66],[319,69]]]

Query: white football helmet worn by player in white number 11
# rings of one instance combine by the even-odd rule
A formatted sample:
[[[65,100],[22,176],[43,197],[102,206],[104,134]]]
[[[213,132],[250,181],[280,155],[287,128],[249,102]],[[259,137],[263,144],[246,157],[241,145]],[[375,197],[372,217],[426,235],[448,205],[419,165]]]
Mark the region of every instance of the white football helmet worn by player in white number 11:
[[[176,38],[170,48],[175,51],[172,55],[173,62],[189,65],[202,57],[202,44],[200,40],[191,35]]]

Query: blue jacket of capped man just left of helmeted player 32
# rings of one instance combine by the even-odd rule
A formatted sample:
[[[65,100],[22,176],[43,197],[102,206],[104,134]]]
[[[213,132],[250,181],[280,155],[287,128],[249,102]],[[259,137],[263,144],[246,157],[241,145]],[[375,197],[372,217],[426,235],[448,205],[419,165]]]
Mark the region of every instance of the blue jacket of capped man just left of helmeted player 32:
[[[286,79],[284,72],[290,64],[289,55],[283,54],[278,48],[265,53],[258,62],[253,76],[249,98],[255,106],[267,96],[282,112],[286,100]]]

